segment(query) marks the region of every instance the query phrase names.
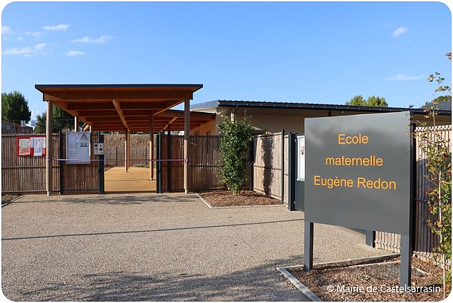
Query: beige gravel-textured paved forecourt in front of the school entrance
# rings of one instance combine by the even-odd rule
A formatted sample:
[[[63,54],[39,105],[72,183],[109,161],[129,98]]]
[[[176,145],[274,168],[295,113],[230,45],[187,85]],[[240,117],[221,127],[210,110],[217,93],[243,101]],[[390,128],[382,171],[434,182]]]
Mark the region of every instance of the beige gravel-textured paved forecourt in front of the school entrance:
[[[306,301],[275,269],[303,263],[303,212],[206,208],[190,194],[25,196],[2,208],[14,301]],[[314,261],[383,255],[315,224]]]

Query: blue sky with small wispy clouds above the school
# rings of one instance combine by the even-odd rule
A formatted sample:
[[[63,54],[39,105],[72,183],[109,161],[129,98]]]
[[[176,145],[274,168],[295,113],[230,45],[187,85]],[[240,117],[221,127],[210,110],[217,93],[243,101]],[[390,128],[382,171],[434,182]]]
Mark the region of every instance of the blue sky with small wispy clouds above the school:
[[[391,107],[451,85],[450,10],[437,2],[15,2],[1,15],[1,91],[35,84],[204,84],[217,99]]]

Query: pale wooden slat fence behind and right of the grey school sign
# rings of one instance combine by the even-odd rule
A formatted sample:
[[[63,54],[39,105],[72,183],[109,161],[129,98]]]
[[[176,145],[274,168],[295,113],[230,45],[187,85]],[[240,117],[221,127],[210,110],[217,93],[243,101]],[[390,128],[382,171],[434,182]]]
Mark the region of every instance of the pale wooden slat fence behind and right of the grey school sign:
[[[433,252],[433,248],[438,245],[438,240],[432,234],[429,226],[427,226],[428,219],[434,219],[428,210],[428,197],[426,190],[428,188],[427,168],[425,166],[424,159],[426,158],[423,154],[423,150],[420,147],[420,134],[423,131],[429,131],[432,138],[435,134],[441,136],[442,140],[446,140],[451,145],[452,138],[452,126],[445,125],[441,127],[417,127],[415,131],[416,136],[416,201],[415,201],[415,241],[414,241],[414,252],[420,257],[420,259],[430,260],[434,263],[438,263],[436,254]],[[375,245],[377,248],[391,250],[393,252],[400,252],[401,236],[391,234],[389,232],[376,232]]]

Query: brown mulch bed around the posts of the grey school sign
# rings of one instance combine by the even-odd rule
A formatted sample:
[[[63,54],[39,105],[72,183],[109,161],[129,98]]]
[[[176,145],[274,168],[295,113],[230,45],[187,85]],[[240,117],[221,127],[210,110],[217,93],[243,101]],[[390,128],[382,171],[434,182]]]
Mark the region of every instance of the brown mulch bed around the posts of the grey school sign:
[[[382,261],[380,264],[378,262]],[[353,266],[369,264],[367,266]],[[351,267],[353,266],[353,267]],[[417,270],[416,268],[423,270]],[[442,269],[415,257],[412,259],[412,285],[400,290],[400,258],[368,262],[348,262],[287,269],[323,301],[441,301]],[[447,292],[450,293],[450,291]]]

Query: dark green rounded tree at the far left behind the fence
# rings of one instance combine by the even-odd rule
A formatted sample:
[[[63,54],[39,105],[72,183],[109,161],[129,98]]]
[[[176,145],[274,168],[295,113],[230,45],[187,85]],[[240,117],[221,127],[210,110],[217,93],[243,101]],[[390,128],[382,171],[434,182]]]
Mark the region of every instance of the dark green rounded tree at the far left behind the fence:
[[[19,93],[1,93],[1,119],[10,122],[20,123],[25,120],[30,121],[31,111],[28,108],[28,100]]]

